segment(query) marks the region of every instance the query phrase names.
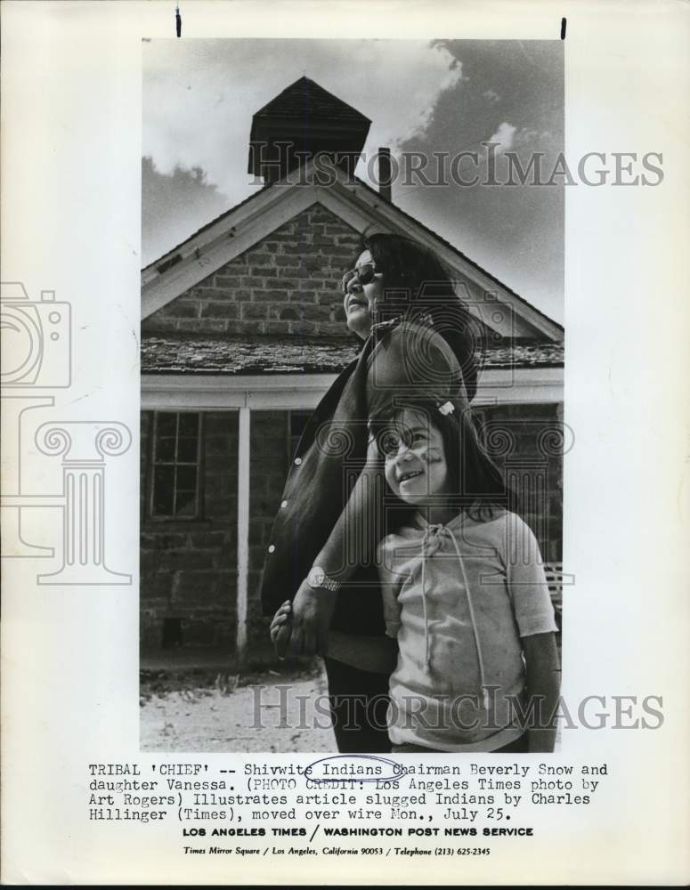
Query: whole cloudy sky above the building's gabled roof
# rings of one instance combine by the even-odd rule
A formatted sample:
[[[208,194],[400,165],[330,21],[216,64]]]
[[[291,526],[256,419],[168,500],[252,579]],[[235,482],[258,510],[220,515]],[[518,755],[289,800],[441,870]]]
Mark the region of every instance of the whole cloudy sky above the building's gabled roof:
[[[371,120],[366,157],[499,142],[550,172],[564,140],[560,41],[153,40],[143,47],[142,260],[256,192],[252,115],[306,75]],[[433,166],[427,170],[435,170]],[[505,163],[505,162],[504,162]],[[485,165],[467,158],[466,179]],[[357,174],[368,180],[360,164]],[[563,188],[394,183],[394,202],[563,320]]]

